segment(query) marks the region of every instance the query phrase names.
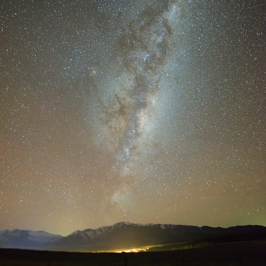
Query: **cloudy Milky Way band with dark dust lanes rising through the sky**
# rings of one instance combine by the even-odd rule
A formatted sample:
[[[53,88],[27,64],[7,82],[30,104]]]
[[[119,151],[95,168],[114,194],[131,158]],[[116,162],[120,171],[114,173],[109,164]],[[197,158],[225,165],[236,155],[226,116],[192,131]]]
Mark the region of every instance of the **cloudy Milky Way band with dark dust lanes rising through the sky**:
[[[118,39],[124,78],[111,104],[103,106],[103,123],[110,133],[108,141],[114,142],[111,149],[117,161],[114,176],[122,185],[112,196],[114,202],[119,203],[120,190],[124,190],[122,194],[128,193],[127,183],[137,182],[140,176],[134,168],[143,166],[139,158],[149,147],[147,127],[171,53],[171,19],[177,16],[176,9],[169,4],[145,9],[133,22],[126,24]]]

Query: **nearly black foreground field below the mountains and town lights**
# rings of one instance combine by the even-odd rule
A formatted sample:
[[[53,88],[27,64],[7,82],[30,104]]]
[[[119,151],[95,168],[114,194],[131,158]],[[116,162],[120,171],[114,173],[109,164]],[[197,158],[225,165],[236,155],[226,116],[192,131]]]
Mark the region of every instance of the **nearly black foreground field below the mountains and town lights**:
[[[0,265],[266,265],[266,242],[221,244],[161,252],[81,253],[0,249]]]

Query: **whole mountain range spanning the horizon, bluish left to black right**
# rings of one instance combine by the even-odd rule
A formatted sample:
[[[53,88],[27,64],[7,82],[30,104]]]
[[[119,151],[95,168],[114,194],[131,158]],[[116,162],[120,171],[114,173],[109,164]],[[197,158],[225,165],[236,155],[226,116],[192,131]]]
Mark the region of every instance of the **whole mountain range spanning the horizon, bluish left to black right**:
[[[97,251],[181,242],[216,241],[222,243],[266,238],[266,227],[258,225],[229,228],[169,224],[134,224],[120,222],[98,229],[76,231],[68,236],[44,231],[0,231],[0,247],[45,250]]]

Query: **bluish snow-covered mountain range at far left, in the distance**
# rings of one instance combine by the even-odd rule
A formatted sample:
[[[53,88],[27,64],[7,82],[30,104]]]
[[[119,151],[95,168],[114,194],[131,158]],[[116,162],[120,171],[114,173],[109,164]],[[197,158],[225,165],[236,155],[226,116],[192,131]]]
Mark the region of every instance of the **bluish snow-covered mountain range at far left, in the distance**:
[[[49,234],[45,231],[2,230],[0,247],[38,247],[59,240],[63,236]]]

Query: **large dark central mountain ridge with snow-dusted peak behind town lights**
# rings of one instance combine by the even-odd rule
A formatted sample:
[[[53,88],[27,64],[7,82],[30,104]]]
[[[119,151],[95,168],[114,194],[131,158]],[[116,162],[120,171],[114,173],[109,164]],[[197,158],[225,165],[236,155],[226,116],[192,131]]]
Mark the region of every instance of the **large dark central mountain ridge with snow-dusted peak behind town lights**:
[[[66,247],[67,250],[112,250],[252,234],[266,234],[266,227],[249,225],[222,228],[151,223],[143,225],[120,222],[95,230],[86,229],[73,232],[52,243],[52,245]]]

